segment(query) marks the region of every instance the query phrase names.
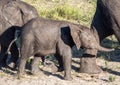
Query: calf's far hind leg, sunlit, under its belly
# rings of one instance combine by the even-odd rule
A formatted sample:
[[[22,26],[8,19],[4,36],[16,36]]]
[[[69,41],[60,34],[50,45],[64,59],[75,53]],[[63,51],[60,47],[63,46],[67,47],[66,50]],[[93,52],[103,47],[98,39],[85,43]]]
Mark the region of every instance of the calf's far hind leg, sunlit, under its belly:
[[[32,61],[32,65],[31,65],[31,73],[33,75],[37,75],[40,73],[40,69],[39,69],[39,63],[40,63],[40,59],[41,57],[34,57],[33,61]]]

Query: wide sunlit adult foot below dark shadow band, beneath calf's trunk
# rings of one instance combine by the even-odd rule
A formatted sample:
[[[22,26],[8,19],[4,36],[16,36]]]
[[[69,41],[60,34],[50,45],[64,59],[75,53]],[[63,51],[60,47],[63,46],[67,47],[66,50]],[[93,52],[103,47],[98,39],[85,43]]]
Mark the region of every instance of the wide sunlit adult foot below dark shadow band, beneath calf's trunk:
[[[81,73],[98,74],[103,72],[96,64],[96,57],[83,57],[80,62]]]

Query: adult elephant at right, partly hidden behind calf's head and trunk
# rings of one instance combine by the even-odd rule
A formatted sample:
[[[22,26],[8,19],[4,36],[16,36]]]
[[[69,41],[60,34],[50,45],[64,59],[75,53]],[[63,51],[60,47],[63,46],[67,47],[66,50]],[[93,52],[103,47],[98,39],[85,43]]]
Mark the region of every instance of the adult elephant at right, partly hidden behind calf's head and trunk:
[[[112,34],[114,34],[120,42],[120,1],[97,0],[97,8],[91,26],[96,28],[100,42]],[[95,52],[93,52],[93,54],[95,55]],[[86,59],[83,58],[82,62],[87,62],[87,64],[82,63],[82,66],[84,67],[81,68],[82,72],[101,72],[102,70],[97,67],[96,63],[94,63],[95,60],[95,57]],[[90,66],[92,66],[91,69],[93,70],[88,70]]]

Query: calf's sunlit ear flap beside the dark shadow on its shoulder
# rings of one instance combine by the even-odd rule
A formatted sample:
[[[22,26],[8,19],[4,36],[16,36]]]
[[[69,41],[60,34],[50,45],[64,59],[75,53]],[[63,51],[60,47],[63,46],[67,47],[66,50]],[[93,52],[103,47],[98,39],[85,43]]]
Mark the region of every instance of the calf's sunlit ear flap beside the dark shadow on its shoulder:
[[[79,50],[80,47],[81,47],[81,40],[80,40],[80,33],[81,33],[81,30],[79,28],[79,26],[77,25],[70,25],[70,33],[71,33],[71,36],[72,36],[72,39],[77,47],[77,49]]]

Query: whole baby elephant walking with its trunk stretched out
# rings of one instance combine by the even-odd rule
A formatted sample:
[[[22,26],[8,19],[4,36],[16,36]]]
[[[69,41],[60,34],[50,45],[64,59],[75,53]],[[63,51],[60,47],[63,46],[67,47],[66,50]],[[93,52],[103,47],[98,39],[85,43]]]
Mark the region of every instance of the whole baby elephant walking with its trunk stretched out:
[[[59,67],[64,68],[64,79],[71,80],[71,47],[111,51],[97,43],[93,30],[67,21],[34,18],[23,26],[18,77],[24,73],[26,59],[34,56],[31,72],[38,68],[39,57],[55,54]],[[62,64],[63,63],[63,64]]]

